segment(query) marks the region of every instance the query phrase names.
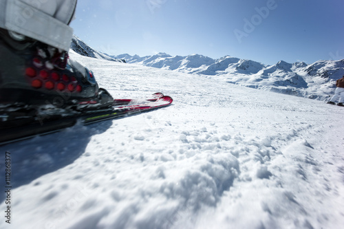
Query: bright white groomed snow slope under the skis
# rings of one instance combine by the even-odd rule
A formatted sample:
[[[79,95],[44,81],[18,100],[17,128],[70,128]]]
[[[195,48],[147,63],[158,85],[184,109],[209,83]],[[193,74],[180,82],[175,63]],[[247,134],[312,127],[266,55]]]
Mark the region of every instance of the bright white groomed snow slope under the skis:
[[[116,98],[162,91],[173,105],[1,146],[15,188],[0,228],[344,225],[343,107],[71,56]]]

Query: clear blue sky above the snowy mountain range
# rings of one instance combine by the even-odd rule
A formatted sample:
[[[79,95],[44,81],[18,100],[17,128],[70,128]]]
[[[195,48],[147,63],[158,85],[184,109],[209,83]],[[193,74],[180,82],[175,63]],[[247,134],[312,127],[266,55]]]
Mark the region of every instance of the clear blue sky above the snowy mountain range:
[[[344,58],[343,0],[78,0],[74,34],[107,54]]]

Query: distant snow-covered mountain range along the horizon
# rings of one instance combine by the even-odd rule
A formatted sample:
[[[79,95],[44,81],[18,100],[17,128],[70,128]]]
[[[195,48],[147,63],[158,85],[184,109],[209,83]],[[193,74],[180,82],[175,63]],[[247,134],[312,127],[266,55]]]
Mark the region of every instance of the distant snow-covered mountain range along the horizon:
[[[170,56],[159,53],[144,57],[122,54],[113,57],[125,59],[127,63],[213,76],[227,83],[316,100],[332,96],[335,81],[344,75],[344,60],[317,61],[312,65],[279,61],[269,66],[232,56],[213,60],[198,54]]]

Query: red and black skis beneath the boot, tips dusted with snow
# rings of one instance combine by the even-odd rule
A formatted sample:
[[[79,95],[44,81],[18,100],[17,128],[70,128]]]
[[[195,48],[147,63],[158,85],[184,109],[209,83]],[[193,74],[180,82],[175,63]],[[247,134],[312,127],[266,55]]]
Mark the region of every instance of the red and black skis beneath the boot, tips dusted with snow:
[[[86,125],[167,107],[171,105],[173,99],[158,93],[153,94],[153,98],[136,101],[138,100],[114,100],[112,107],[104,109],[47,114],[30,118],[22,116],[17,118],[16,122],[6,122],[6,118],[3,118],[3,121],[0,121],[0,145],[61,131],[61,129],[74,126],[76,122]]]

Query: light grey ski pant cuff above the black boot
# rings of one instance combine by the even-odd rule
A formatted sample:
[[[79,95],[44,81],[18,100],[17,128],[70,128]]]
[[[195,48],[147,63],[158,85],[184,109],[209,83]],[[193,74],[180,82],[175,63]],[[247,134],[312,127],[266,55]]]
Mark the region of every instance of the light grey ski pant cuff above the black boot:
[[[0,0],[0,28],[68,51],[77,0]]]

